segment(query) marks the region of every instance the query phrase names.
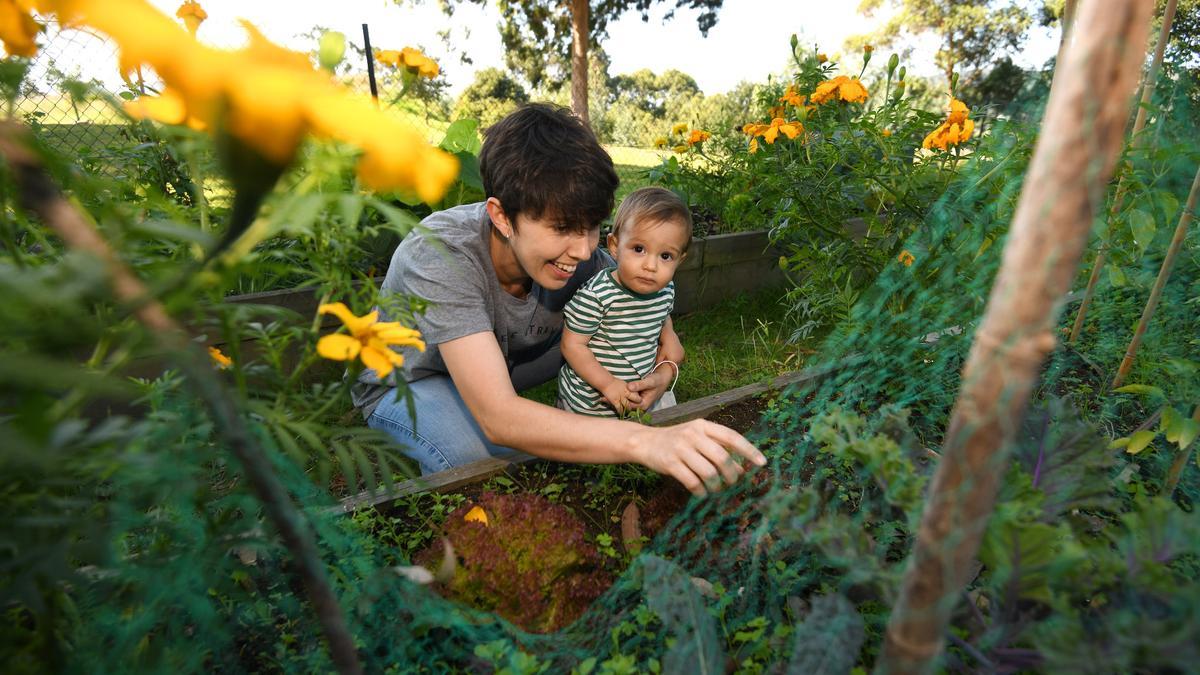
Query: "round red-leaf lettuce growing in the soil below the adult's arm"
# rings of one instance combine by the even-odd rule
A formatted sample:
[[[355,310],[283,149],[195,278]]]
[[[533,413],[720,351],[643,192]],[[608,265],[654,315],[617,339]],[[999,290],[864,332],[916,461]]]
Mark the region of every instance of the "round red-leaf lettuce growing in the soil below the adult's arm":
[[[612,584],[583,524],[538,495],[485,492],[446,518],[445,534],[458,566],[438,590],[530,632],[568,626]],[[416,562],[437,567],[442,555],[436,543]]]

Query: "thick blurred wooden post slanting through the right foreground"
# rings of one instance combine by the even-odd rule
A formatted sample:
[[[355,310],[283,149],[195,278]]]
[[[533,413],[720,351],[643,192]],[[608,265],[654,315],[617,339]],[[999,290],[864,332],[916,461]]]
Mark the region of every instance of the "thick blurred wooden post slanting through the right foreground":
[[[881,673],[926,673],[970,579],[1008,447],[1124,137],[1153,0],[1084,2],[1050,88],[1003,261],[962,370]]]

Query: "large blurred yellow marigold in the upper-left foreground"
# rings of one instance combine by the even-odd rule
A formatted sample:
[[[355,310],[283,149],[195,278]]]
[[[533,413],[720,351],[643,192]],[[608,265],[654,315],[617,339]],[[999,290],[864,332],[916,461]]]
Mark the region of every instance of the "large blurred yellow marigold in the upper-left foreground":
[[[452,155],[431,148],[370,98],[314,68],[307,55],[274,44],[248,23],[242,23],[247,47],[224,50],[200,44],[145,0],[50,4],[68,6],[66,19],[110,36],[122,71],[152,67],[190,118],[209,129],[220,123],[272,162],[288,163],[311,133],[361,148],[359,177],[376,190],[412,190],[436,202],[457,177]]]

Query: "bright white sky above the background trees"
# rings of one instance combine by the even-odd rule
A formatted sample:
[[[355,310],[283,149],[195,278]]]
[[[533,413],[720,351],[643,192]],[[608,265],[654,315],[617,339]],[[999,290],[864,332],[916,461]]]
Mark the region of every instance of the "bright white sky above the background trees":
[[[151,2],[174,14],[180,0]],[[209,19],[200,26],[198,37],[222,47],[236,47],[244,41],[238,18],[250,20],[269,38],[300,50],[313,47],[311,40],[299,36],[316,25],[342,31],[361,44],[361,24],[366,23],[376,49],[425,48],[440,64],[451,96],[470,84],[476,68],[504,67],[504,49],[496,29],[499,13],[493,2],[484,7],[461,2],[452,18],[437,8],[436,0],[419,0],[406,6],[391,0],[200,0],[200,4]],[[640,68],[655,72],[677,68],[695,78],[704,94],[724,92],[742,80],[763,82],[768,74],[781,73],[793,32],[798,34],[802,44],[816,44],[834,56],[841,52],[846,37],[868,32],[886,18],[862,17],[856,0],[725,0],[716,25],[708,37],[702,37],[696,28],[696,11],[679,10],[671,22],[661,20],[673,5],[672,0],[656,4],[648,23],[634,11],[610,24],[608,38],[602,43],[612,61],[610,74]],[[473,65],[461,64],[458,54],[448,53],[437,36],[439,30],[448,28],[452,43],[473,60]],[[1034,35],[1018,62],[1040,65],[1052,54],[1056,40]],[[916,62],[925,60],[931,66],[931,55],[929,44],[918,44],[908,70],[931,74],[931,67],[926,70]],[[856,58],[854,71],[857,66]]]

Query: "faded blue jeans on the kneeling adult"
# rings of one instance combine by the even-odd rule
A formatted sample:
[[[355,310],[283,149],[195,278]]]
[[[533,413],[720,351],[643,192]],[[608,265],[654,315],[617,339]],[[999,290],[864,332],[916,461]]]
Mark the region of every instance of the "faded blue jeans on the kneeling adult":
[[[367,426],[386,431],[406,455],[421,465],[421,476],[487,458],[517,459],[520,450],[487,440],[448,375],[408,383],[416,419],[403,398],[389,392],[367,418]]]

